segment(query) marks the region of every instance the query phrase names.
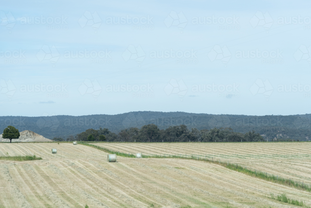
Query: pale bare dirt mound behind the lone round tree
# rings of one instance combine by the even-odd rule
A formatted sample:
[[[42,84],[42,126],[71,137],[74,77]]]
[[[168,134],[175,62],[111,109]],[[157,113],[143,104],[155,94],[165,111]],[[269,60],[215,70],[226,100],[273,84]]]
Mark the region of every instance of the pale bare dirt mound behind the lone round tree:
[[[0,142],[10,142],[10,139],[4,139],[2,134],[0,134]],[[20,132],[18,139],[12,139],[12,142],[53,142],[53,140],[47,139],[33,131],[25,130]]]

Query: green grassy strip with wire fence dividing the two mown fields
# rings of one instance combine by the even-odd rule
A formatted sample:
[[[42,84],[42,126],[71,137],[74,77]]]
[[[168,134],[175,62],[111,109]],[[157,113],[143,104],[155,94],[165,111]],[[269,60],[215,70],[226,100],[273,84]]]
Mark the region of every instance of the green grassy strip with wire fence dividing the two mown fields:
[[[117,156],[121,157],[136,157],[137,153],[141,153],[142,158],[180,158],[180,159],[189,159],[189,160],[198,160],[198,161],[205,161],[205,162],[211,162],[215,164],[219,164],[223,167],[226,167],[228,169],[238,171],[245,173],[247,175],[258,177],[267,181],[271,181],[274,183],[282,184],[282,185],[288,185],[297,189],[301,189],[304,191],[311,192],[311,186],[310,184],[306,184],[304,181],[294,181],[290,178],[280,177],[278,175],[274,175],[262,170],[258,170],[252,167],[247,167],[244,165],[240,165],[238,163],[231,163],[229,161],[221,160],[220,158],[211,157],[208,155],[200,155],[200,154],[149,154],[149,153],[142,153],[142,152],[136,152],[136,153],[130,153],[130,152],[120,152],[113,149],[100,147],[94,144],[86,143],[86,142],[78,142],[80,144],[91,146],[97,149],[100,149],[107,153],[113,153]]]

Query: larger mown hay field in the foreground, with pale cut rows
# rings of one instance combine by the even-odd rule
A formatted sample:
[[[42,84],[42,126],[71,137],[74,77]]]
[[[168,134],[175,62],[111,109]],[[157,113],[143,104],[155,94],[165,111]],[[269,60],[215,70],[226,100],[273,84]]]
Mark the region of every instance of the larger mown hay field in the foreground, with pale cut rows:
[[[294,207],[270,193],[311,205],[309,192],[202,161],[118,157],[108,163],[107,153],[79,144],[0,145],[0,155],[29,154],[43,160],[0,161],[0,207]]]

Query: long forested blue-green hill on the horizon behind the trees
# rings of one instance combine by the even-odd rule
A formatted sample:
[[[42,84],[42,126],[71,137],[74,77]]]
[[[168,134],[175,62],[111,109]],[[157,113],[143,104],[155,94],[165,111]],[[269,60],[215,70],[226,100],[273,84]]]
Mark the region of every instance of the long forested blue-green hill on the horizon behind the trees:
[[[235,132],[246,133],[250,130],[264,135],[267,139],[290,138],[300,141],[309,141],[311,136],[310,114],[305,115],[213,115],[193,114],[184,112],[152,112],[138,111],[117,115],[86,115],[86,116],[48,116],[48,117],[24,117],[1,116],[0,131],[8,125],[13,125],[19,131],[31,130],[45,138],[67,138],[75,136],[89,128],[109,128],[118,133],[121,129],[129,127],[142,127],[145,124],[154,123],[160,129],[184,124],[189,128],[211,129],[232,128]]]

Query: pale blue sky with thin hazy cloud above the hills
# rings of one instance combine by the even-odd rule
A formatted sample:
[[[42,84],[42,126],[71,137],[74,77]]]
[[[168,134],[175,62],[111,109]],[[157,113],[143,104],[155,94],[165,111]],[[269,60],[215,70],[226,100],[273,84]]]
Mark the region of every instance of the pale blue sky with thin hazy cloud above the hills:
[[[310,113],[310,1],[5,1],[0,116]]]

